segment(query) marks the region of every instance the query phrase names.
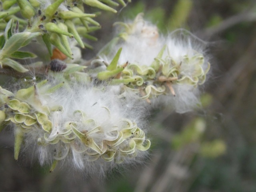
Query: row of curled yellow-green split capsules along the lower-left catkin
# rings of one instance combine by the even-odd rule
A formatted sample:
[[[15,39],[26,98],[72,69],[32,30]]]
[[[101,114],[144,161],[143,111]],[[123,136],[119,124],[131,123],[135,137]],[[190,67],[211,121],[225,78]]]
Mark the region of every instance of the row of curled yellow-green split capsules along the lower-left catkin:
[[[42,89],[46,91],[56,92],[61,88],[61,86],[49,88],[44,83],[39,82],[38,85],[43,86]],[[62,106],[49,108],[42,103],[38,104],[36,90],[38,90],[36,86],[23,89],[29,97],[18,98],[7,90],[0,90],[2,97],[12,96],[9,100],[3,99],[7,107],[5,111],[0,110],[0,121],[12,122],[15,125],[15,159],[18,159],[24,134],[35,131],[41,133],[35,138],[38,145],[56,149],[53,158],[57,161],[63,160],[73,151],[86,156],[88,161],[101,158],[107,162],[121,163],[126,159],[134,158],[139,151],[149,149],[150,141],[145,138],[144,131],[138,128],[135,122],[121,118],[114,124],[104,125],[90,118],[90,114],[82,110],[68,112],[72,121],[63,121],[62,114],[68,109]],[[37,104],[34,103],[35,101]],[[103,112],[111,119],[110,109],[107,106],[101,108],[104,108],[105,112]]]

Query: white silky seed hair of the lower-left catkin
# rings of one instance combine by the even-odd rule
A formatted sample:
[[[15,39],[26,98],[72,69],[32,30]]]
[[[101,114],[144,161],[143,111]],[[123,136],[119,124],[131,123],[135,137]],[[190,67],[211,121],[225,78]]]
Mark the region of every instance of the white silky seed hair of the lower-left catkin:
[[[102,141],[116,139],[116,133],[120,132],[125,124],[123,119],[129,119],[131,123],[136,123],[138,127],[145,126],[143,120],[144,110],[136,106],[133,101],[122,102],[108,86],[96,88],[93,84],[85,85],[84,83],[73,83],[65,85],[51,93],[46,93],[46,89],[60,83],[54,79],[48,80],[46,86],[37,89],[37,97],[43,106],[52,108],[54,106],[62,106],[62,111],[54,111],[50,113],[49,120],[52,122],[52,130],[46,133],[42,128],[32,128],[25,134],[24,141],[26,143],[25,150],[30,151],[35,157],[39,158],[40,164],[52,164],[54,160],[62,160],[58,164],[66,165],[68,168],[82,170],[85,174],[96,173],[104,175],[112,168],[125,164],[134,164],[141,162],[147,152],[136,150],[135,156],[129,155],[121,158],[118,150],[115,159],[106,161],[102,158],[93,159],[96,155],[87,155],[83,151],[93,154],[95,151],[84,145],[80,140],[66,144],[65,142],[54,143],[60,134],[66,131],[67,122],[80,122],[81,112],[88,121],[88,126],[84,127],[83,123],[77,123],[76,129],[80,132],[88,132],[95,126],[100,126],[100,131],[90,134],[94,142],[100,146]],[[28,104],[36,108],[37,104],[32,99],[26,100]],[[38,102],[38,101],[37,101]],[[36,108],[40,112],[41,108]],[[74,115],[74,112],[76,113]],[[93,124],[90,127],[90,123]],[[137,133],[136,133],[137,134]],[[144,132],[143,132],[144,134]],[[74,134],[73,134],[74,136]],[[70,136],[71,137],[71,136]],[[38,139],[41,141],[46,139],[53,142],[47,145],[38,146]],[[126,144],[124,141],[122,144]],[[128,143],[127,143],[128,145]],[[120,157],[119,157],[120,156]],[[122,164],[116,161],[122,160]]]

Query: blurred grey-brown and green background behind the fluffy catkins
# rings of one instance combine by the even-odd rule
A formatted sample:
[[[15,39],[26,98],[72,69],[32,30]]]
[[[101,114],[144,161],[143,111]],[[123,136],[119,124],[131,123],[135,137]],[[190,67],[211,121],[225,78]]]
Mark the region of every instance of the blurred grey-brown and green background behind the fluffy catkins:
[[[211,72],[202,109],[152,111],[145,163],[114,170],[105,179],[61,168],[49,173],[25,155],[16,162],[6,128],[0,134],[0,191],[256,191],[256,1],[132,0],[117,15],[102,12],[102,29],[94,34],[99,41],[88,41],[94,50],[84,50],[84,58],[112,39],[115,21],[133,20],[140,12],[162,34],[186,28],[209,42]]]

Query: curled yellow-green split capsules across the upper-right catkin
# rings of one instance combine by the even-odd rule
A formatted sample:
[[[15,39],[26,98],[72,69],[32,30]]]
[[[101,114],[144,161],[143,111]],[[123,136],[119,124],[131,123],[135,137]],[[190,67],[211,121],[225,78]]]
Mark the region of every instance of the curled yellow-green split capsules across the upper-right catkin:
[[[205,82],[210,64],[206,63],[202,54],[194,51],[193,56],[184,55],[181,59],[175,60],[169,53],[162,58],[165,49],[164,45],[151,66],[138,63],[127,64],[124,70],[120,70],[119,76],[112,76],[110,84],[123,84],[123,92],[120,96],[124,96],[128,91],[139,94],[141,99],[148,100],[162,94],[175,96],[175,90],[172,87],[175,84],[197,87]],[[108,71],[102,71],[99,74],[105,73]],[[99,74],[98,78],[103,79]]]

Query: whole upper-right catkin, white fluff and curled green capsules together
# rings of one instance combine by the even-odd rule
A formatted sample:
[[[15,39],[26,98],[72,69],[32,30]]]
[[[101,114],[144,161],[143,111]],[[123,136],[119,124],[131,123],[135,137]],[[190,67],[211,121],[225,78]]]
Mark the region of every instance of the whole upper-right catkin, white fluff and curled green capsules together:
[[[118,64],[128,65],[111,80],[120,84],[121,95],[134,93],[148,103],[153,100],[152,106],[167,104],[179,113],[198,105],[199,86],[210,69],[206,43],[183,29],[160,38],[156,26],[141,14],[134,22],[118,24],[124,26],[118,35],[122,40],[114,38],[108,45],[111,51],[100,52],[100,59],[110,63],[122,47]]]

